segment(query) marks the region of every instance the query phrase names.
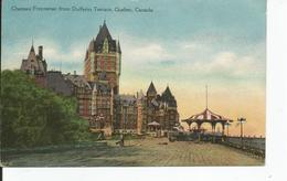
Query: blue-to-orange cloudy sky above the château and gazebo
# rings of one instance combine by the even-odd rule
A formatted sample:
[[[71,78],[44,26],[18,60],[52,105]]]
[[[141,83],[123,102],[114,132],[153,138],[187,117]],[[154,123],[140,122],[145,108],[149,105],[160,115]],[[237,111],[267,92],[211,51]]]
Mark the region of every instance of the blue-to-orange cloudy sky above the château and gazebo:
[[[34,46],[44,46],[49,70],[83,74],[86,49],[104,20],[121,46],[120,94],[146,92],[151,81],[159,94],[169,85],[185,119],[205,108],[208,85],[212,111],[234,120],[246,117],[245,135],[265,135],[265,0],[3,1],[2,70],[19,68],[33,39]],[[230,132],[238,135],[240,127],[233,124]]]

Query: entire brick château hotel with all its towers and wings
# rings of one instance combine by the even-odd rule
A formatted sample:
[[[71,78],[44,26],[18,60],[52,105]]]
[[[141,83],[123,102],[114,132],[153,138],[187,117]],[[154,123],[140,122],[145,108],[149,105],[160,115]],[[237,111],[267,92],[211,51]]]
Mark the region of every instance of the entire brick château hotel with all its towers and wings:
[[[151,82],[147,92],[137,95],[119,93],[121,50],[104,21],[95,39],[91,40],[84,58],[84,75],[46,71],[43,46],[35,55],[32,45],[21,70],[41,85],[64,96],[74,96],[78,114],[89,121],[91,131],[166,135],[179,126],[177,100],[169,86],[158,94]]]

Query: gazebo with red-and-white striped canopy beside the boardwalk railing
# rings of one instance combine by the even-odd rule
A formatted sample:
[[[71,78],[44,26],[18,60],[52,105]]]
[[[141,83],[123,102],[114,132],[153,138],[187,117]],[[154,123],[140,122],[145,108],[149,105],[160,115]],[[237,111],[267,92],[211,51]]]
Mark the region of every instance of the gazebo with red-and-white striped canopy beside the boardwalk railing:
[[[201,125],[204,123],[208,123],[211,125],[212,132],[215,132],[216,124],[222,125],[222,135],[224,135],[225,125],[232,123],[233,120],[230,118],[225,118],[221,115],[217,115],[213,111],[211,111],[208,107],[200,114],[193,115],[188,119],[183,119],[181,121],[184,121],[189,125],[189,129],[193,123],[196,124],[198,130],[201,129]]]

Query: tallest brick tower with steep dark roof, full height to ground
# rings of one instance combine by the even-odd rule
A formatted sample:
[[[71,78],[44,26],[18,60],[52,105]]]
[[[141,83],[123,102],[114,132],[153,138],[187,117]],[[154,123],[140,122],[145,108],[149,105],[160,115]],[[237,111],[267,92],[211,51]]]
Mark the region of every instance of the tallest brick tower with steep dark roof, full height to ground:
[[[89,123],[94,131],[109,136],[114,131],[115,96],[119,94],[121,51],[106,22],[99,26],[96,39],[89,42],[84,61],[84,78],[92,88]]]

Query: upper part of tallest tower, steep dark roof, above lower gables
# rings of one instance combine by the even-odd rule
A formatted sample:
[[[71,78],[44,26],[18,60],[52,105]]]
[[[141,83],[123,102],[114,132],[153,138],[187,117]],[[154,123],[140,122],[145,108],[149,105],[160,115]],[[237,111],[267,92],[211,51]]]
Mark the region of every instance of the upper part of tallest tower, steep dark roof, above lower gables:
[[[99,74],[106,72],[109,86],[115,94],[119,92],[121,51],[119,42],[114,40],[106,22],[99,26],[96,40],[89,42],[84,61],[84,75],[88,82],[97,82]]]

